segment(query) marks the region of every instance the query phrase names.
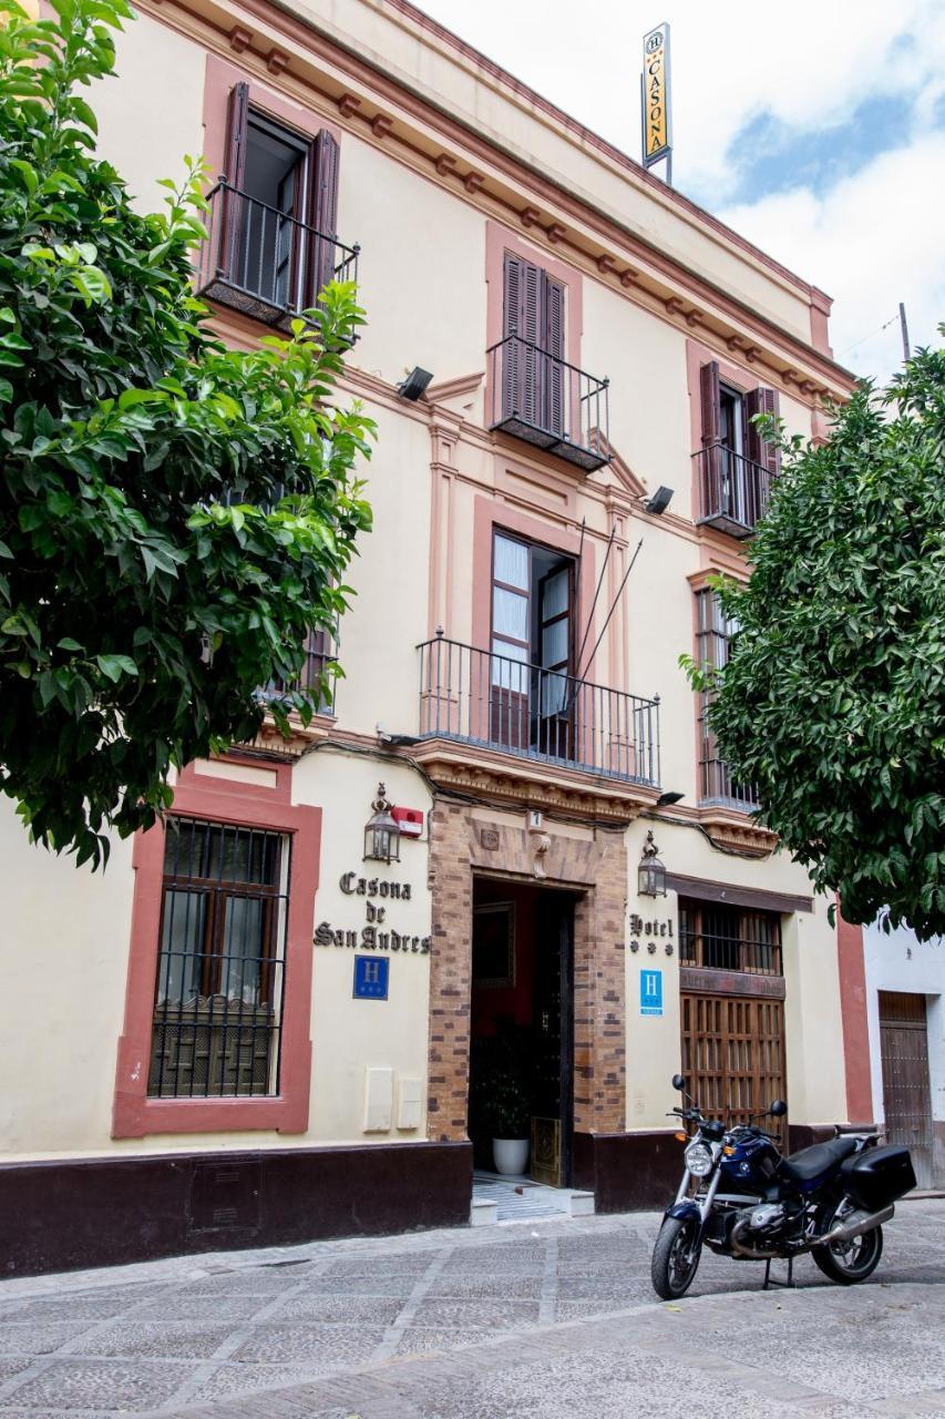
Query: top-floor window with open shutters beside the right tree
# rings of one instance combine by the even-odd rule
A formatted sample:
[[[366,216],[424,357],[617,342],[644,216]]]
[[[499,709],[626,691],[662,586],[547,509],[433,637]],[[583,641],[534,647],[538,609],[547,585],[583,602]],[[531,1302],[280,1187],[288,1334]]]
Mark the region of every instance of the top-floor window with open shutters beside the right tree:
[[[768,505],[770,478],[779,468],[778,448],[766,444],[752,423],[755,414],[778,414],[778,390],[748,392],[719,377],[718,360],[700,375],[702,447],[695,454],[698,521],[749,536]]]

